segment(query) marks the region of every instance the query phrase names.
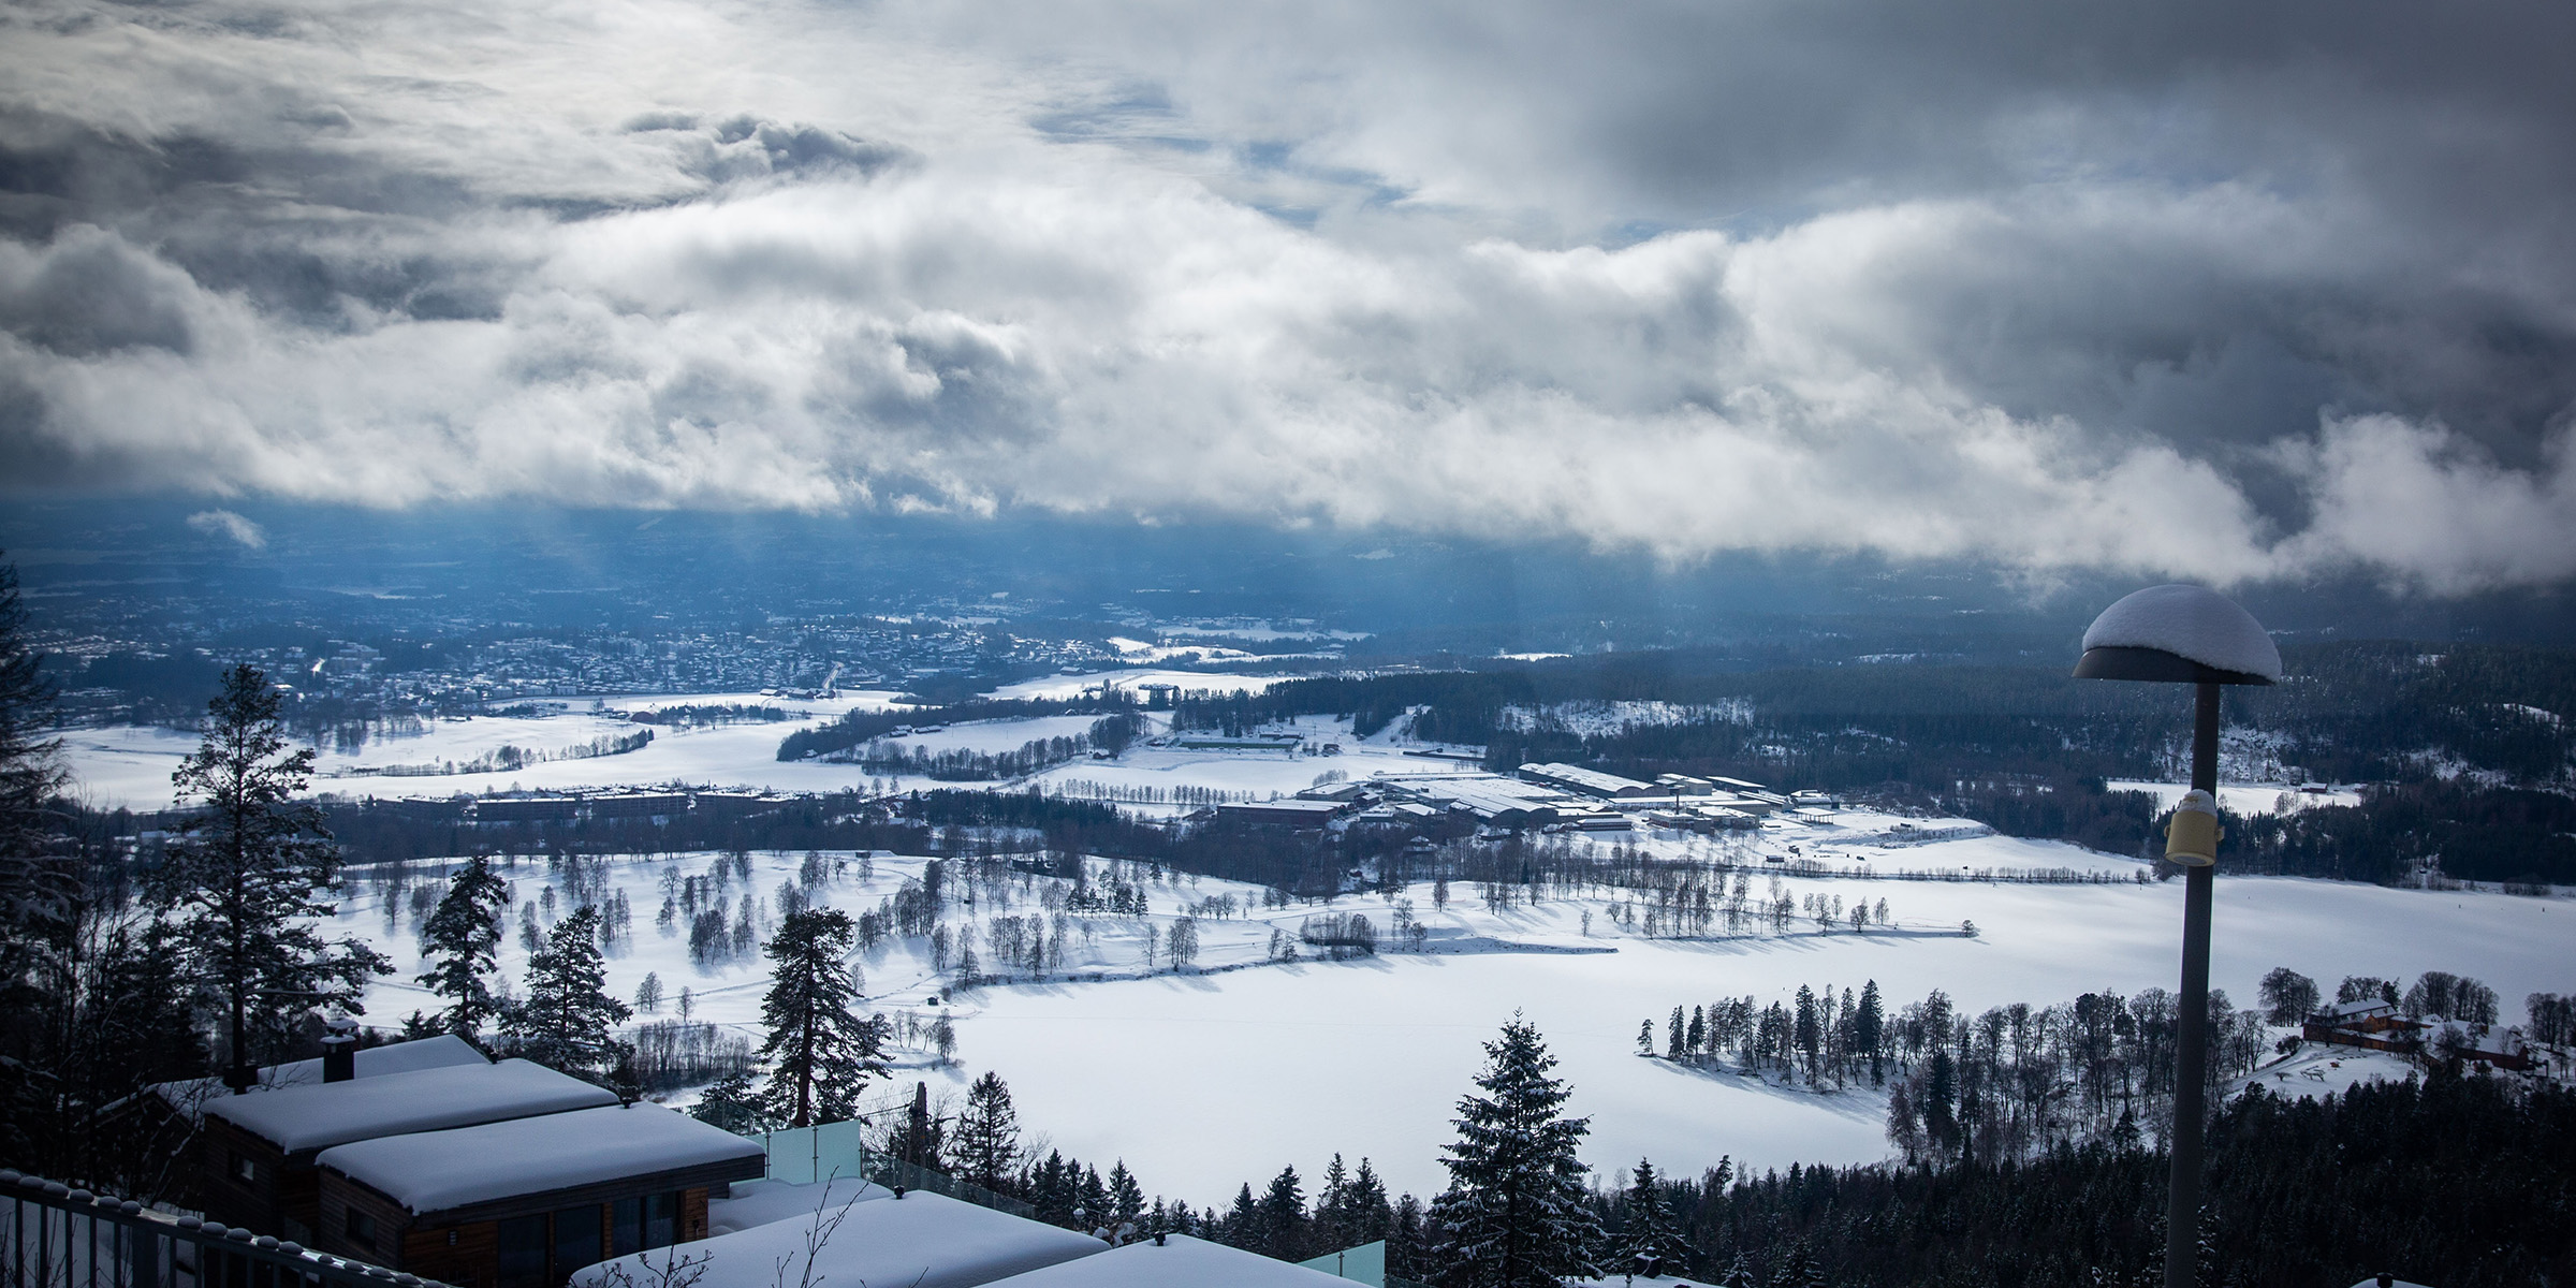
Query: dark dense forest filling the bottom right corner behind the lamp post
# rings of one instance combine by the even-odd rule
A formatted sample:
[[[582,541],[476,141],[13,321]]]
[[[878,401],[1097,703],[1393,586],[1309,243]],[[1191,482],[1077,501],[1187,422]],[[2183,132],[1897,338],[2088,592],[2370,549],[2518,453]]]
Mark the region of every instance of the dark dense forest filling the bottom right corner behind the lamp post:
[[[2576,1275],[2576,1092],[2463,1074],[2316,1097],[2251,1087],[2208,1123],[2195,1275],[2313,1288],[2391,1273],[2445,1288],[2545,1288]],[[2025,1159],[1664,1175],[1677,1273],[1723,1288],[2154,1288],[2164,1283],[2164,1154],[2136,1139]],[[1633,1190],[1595,1195],[1625,1236]],[[1667,1273],[1674,1273],[1667,1270]]]

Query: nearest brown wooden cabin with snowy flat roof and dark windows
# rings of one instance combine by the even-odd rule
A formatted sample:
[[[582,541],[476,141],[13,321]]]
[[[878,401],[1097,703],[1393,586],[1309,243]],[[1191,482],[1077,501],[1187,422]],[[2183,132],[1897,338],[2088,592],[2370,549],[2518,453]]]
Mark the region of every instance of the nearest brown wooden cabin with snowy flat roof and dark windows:
[[[652,1103],[325,1149],[314,1247],[461,1288],[706,1239],[706,1200],[768,1167],[760,1141]]]

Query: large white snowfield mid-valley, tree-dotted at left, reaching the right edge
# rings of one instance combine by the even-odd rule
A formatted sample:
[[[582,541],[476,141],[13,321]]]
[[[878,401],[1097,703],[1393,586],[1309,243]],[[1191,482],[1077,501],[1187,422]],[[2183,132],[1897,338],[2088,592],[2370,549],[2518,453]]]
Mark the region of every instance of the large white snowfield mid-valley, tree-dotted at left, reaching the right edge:
[[[1996,866],[1999,848],[2022,845],[2030,842],[1971,837],[1914,850],[1984,868]],[[750,889],[768,896],[799,860],[755,855]],[[698,855],[680,868],[703,873],[708,863]],[[876,858],[871,881],[845,876],[822,896],[850,912],[876,907],[920,866],[920,858]],[[634,904],[634,933],[611,958],[611,987],[631,994],[657,971],[665,997],[688,987],[698,1018],[750,1030],[765,987],[760,958],[690,966],[685,938],[652,925],[665,868],[654,860],[613,868]],[[533,866],[520,866],[515,878],[520,899],[536,899],[546,884]],[[1023,884],[1010,909],[987,896],[979,912],[1038,912],[1033,894],[1043,884]],[[1767,876],[1757,876],[1757,894],[1765,886]],[[1481,1061],[1479,1043],[1517,1010],[1564,1061],[1574,1113],[1592,1115],[1584,1159],[1602,1175],[1638,1157],[1682,1170],[1721,1154],[1754,1167],[1865,1162],[1888,1151],[1878,1097],[1816,1097],[1638,1059],[1638,1020],[1662,1018],[1672,1005],[1739,994],[1770,1002],[1798,984],[1865,979],[1875,979],[1891,1005],[1945,989],[1968,1010],[2174,984],[2179,884],[1785,878],[1783,886],[1793,896],[1886,899],[1896,927],[1816,935],[1801,922],[1785,938],[1643,940],[1610,920],[1620,891],[1489,909],[1461,884],[1445,912],[1432,907],[1430,886],[1406,891],[1432,927],[1435,953],[1260,963],[1273,927],[1293,935],[1303,917],[1324,909],[1265,914],[1249,886],[1180,878],[1149,886],[1154,914],[1144,922],[1090,917],[1066,958],[1074,979],[956,997],[958,1061],[938,1066],[917,1048],[902,1077],[927,1077],[933,1095],[961,1095],[971,1077],[997,1069],[1030,1131],[1046,1131],[1084,1159],[1123,1157],[1151,1190],[1195,1203],[1218,1203],[1234,1185],[1288,1162],[1314,1175],[1332,1151],[1365,1154],[1391,1185],[1430,1193],[1440,1185],[1448,1118]],[[2239,1002],[2254,999],[2254,981],[2272,966],[2329,984],[2344,974],[2411,979],[2445,969],[2488,981],[2509,999],[2506,1010],[2527,992],[2576,984],[2576,904],[2568,902],[2300,878],[2226,878],[2218,891],[2213,981]],[[1167,927],[1180,902],[1216,894],[1255,909],[1198,922],[1203,974],[1139,979],[1144,930]],[[1391,917],[1381,896],[1340,899],[1334,912],[1365,912],[1381,927]],[[1976,938],[1960,935],[1965,920],[1978,925]],[[404,966],[404,976],[379,984],[371,1020],[389,1023],[428,1002],[407,987],[417,971],[410,917],[402,933],[386,935],[381,904],[368,894],[350,902],[343,922],[384,943]],[[502,966],[513,976],[526,966],[515,933]],[[945,981],[930,971],[922,940],[886,945],[860,966],[871,999],[889,1015],[909,1012],[917,1023],[935,1015],[927,1002]],[[1092,974],[1105,979],[1084,979]],[[2367,1061],[2347,1059],[2347,1066]],[[2290,1077],[2303,1090],[2311,1082],[2303,1072]]]

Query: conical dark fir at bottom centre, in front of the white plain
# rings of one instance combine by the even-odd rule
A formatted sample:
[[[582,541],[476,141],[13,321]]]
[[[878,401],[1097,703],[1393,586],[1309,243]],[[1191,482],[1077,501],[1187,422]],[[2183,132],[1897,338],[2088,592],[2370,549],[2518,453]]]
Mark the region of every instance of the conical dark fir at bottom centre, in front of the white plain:
[[[1556,1056],[1520,1018],[1484,1043],[1486,1069],[1458,1103],[1458,1144],[1440,1159],[1450,1188],[1432,1200],[1443,1288],[1556,1288],[1569,1275],[1597,1278],[1600,1224],[1584,1203],[1584,1164],[1574,1146],[1589,1118],[1561,1118],[1566,1082],[1548,1077]]]

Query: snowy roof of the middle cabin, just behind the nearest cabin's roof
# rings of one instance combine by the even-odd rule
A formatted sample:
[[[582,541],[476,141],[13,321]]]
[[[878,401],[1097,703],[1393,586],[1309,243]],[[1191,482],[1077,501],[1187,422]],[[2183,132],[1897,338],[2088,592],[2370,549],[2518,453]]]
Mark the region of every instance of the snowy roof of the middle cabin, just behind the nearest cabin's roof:
[[[363,1054],[363,1051],[361,1051]],[[407,1074],[314,1082],[263,1095],[224,1095],[206,1113],[289,1154],[410,1131],[438,1131],[536,1113],[616,1105],[605,1087],[556,1074],[544,1064],[505,1059],[412,1069]]]

